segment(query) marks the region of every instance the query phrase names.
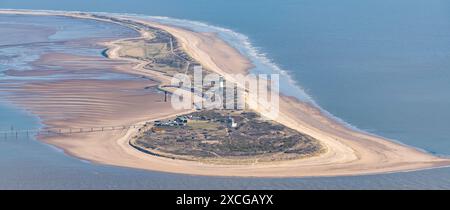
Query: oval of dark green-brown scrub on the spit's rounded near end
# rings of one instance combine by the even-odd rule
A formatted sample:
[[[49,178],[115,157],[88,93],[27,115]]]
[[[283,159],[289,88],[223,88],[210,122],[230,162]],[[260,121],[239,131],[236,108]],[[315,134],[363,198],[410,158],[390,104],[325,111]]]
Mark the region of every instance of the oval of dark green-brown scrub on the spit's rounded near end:
[[[184,159],[272,156],[282,160],[324,150],[316,139],[254,112],[199,111],[179,117],[156,122],[134,144],[152,153]]]

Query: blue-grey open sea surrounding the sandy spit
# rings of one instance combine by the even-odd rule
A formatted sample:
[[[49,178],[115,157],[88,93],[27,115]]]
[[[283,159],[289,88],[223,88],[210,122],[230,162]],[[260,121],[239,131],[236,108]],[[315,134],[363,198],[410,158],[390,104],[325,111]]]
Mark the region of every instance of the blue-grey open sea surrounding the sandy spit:
[[[6,0],[0,2],[0,8],[138,13],[219,26],[159,18],[197,30],[218,31],[258,64],[255,71],[289,72],[307,93],[303,95],[298,88],[291,94],[311,97],[351,125],[431,153],[450,155],[448,1],[111,2]],[[59,24],[65,21],[74,20]],[[101,33],[105,27],[111,30],[108,26],[98,27],[99,31],[90,28],[86,29],[89,34],[81,36],[106,36]],[[64,31],[61,39],[77,34],[76,30],[60,29]],[[251,46],[247,46],[249,42]],[[0,106],[0,127],[7,129],[13,121],[21,126],[38,125],[33,116],[6,104]],[[332,178],[217,178],[93,165],[31,137],[9,137],[0,140],[0,145],[0,188],[450,189],[449,168]]]

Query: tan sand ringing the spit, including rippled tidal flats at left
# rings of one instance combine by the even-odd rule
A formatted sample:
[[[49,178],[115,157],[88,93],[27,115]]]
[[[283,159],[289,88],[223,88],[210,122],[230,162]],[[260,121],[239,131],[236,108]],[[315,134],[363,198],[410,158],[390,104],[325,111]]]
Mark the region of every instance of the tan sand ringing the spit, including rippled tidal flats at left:
[[[2,13],[56,14],[90,18],[77,13],[64,12],[0,10],[0,14]],[[236,81],[232,74],[247,74],[252,66],[248,59],[214,34],[193,32],[138,18],[126,18],[169,32],[177,38],[183,49],[192,58],[205,68],[224,76],[226,80]],[[139,32],[142,38],[148,36],[143,29]],[[50,84],[35,83],[15,90],[17,94],[34,95],[36,96],[35,100],[21,101],[19,97],[11,98],[11,100],[31,110],[43,120],[45,125],[50,127],[77,127],[100,123],[106,125],[142,124],[189,112],[190,110],[173,110],[169,103],[161,101],[160,93],[143,91],[145,87],[156,88],[159,84],[168,84],[171,78],[144,69],[143,66],[146,63],[143,61],[120,57],[117,52],[120,49],[121,41],[103,43],[110,48],[108,56],[111,60],[58,54],[47,55],[41,60],[53,63],[64,61],[61,66],[65,66],[67,69],[70,69],[71,65],[76,65],[79,69],[80,65],[86,65],[86,68],[89,68],[90,65],[95,64],[103,66],[102,71],[140,75],[152,80],[111,82],[70,80]],[[86,62],[89,59],[93,60],[92,63]],[[48,72],[42,74],[45,73]],[[130,91],[125,92],[124,88]],[[250,101],[249,103],[256,102]],[[130,107],[133,108],[130,109]],[[264,110],[255,111],[264,114]],[[62,119],[61,112],[65,113]],[[43,136],[42,140],[63,149],[70,155],[96,163],[208,176],[340,176],[410,171],[450,165],[448,159],[435,157],[415,148],[345,127],[329,118],[317,107],[291,97],[282,96],[280,98],[280,114],[275,120],[320,140],[327,151],[320,156],[277,162],[276,164],[225,166],[173,160],[142,153],[129,145],[129,140],[136,135],[138,128],[103,133]]]

